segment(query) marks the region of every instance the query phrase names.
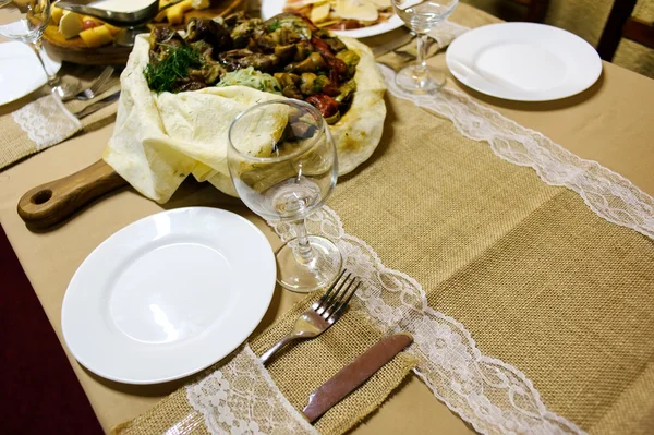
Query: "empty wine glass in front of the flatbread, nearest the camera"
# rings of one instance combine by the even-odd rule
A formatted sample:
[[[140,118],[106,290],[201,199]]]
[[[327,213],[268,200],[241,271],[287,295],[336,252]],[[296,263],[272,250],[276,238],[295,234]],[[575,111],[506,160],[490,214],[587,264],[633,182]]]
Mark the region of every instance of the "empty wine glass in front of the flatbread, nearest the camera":
[[[296,238],[276,253],[277,281],[302,293],[329,286],[341,269],[340,252],[330,240],[307,234],[304,220],[323,205],[338,176],[336,147],[320,112],[295,99],[245,110],[229,128],[228,165],[247,207],[295,227]]]

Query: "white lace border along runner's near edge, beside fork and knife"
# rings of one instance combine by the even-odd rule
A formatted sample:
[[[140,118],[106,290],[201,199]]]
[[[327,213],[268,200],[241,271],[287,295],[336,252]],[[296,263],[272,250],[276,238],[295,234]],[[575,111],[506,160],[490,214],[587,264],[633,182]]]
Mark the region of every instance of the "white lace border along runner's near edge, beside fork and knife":
[[[287,222],[268,222],[282,240],[294,237]],[[483,434],[582,434],[573,423],[547,410],[538,391],[518,368],[484,355],[465,327],[427,304],[413,278],[384,266],[363,240],[347,234],[338,215],[323,207],[310,216],[311,233],[337,243],[343,265],[364,286],[351,310],[360,310],[386,333],[413,335],[414,368],[434,396]]]

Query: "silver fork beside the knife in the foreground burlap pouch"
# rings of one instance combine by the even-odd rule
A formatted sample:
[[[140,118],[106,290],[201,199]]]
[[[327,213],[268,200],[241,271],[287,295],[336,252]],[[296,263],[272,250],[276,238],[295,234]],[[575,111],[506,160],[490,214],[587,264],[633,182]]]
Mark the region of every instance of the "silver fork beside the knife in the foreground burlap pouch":
[[[318,299],[311,309],[306,310],[295,321],[293,330],[277,341],[275,346],[268,349],[259,359],[259,361],[266,365],[275,353],[289,342],[298,339],[314,338],[326,331],[336,321],[340,318],[343,311],[348,306],[348,303],[354,295],[361,280],[356,277],[352,277],[349,273],[344,278],[346,270],[341,271],[336,281],[329,287],[329,289]],[[353,290],[350,290],[352,287]]]

